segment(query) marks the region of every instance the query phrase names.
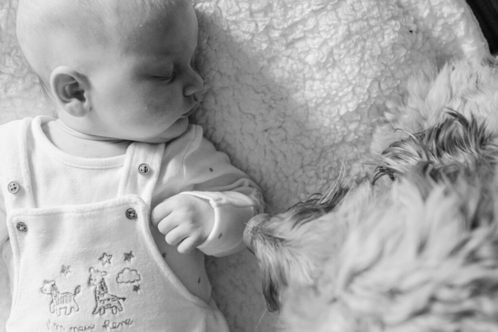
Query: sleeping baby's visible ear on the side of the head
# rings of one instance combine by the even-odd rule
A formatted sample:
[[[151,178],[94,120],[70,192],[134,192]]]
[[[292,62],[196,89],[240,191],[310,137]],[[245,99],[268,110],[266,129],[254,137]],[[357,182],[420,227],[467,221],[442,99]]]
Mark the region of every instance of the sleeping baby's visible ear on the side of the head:
[[[90,110],[88,78],[67,66],[55,68],[50,74],[50,88],[59,106],[70,115],[85,116]]]

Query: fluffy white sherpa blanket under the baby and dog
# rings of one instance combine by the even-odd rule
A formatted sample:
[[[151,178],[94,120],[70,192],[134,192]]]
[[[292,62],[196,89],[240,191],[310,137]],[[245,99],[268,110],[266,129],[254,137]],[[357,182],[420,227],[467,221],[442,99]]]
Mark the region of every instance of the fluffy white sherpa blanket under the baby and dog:
[[[479,59],[487,43],[464,0],[194,0],[195,120],[281,210],[328,187],[347,165],[364,174],[386,101],[426,61]],[[50,113],[15,39],[16,0],[0,0],[0,123]],[[2,262],[3,264],[3,262]],[[208,259],[214,296],[234,332],[273,331],[248,252]],[[0,267],[0,324],[9,291]],[[26,313],[29,319],[29,313]]]

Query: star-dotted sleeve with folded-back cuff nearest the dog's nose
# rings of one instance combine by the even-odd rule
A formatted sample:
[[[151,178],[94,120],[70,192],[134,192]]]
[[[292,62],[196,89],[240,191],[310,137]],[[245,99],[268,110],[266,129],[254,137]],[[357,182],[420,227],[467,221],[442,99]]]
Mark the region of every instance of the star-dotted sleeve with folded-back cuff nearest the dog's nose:
[[[181,154],[179,193],[207,200],[215,213],[213,229],[198,249],[212,256],[235,253],[244,248],[247,221],[262,212],[260,189],[203,137],[200,126],[193,126],[190,138]]]

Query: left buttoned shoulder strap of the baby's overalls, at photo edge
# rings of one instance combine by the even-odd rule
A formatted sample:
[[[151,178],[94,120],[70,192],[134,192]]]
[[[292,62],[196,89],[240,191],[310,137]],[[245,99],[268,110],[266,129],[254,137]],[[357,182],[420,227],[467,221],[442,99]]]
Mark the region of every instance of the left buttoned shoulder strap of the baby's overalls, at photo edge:
[[[0,186],[6,211],[34,208],[27,153],[27,133],[32,118],[0,126]]]

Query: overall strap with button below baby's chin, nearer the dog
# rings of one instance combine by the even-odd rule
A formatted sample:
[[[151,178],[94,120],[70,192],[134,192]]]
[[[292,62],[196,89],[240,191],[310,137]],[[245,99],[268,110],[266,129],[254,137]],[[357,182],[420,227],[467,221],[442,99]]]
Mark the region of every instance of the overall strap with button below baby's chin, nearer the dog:
[[[139,195],[150,205],[161,169],[165,144],[133,142],[126,151],[118,196]]]

